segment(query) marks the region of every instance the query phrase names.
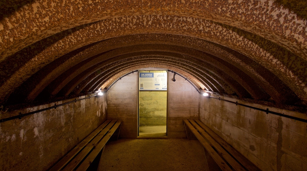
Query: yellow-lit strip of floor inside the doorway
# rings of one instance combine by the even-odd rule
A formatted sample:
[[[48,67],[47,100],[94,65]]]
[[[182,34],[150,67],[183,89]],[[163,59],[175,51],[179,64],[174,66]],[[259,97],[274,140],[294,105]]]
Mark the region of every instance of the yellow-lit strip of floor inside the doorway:
[[[166,136],[166,125],[163,126],[140,126],[139,127],[139,138],[155,138]]]

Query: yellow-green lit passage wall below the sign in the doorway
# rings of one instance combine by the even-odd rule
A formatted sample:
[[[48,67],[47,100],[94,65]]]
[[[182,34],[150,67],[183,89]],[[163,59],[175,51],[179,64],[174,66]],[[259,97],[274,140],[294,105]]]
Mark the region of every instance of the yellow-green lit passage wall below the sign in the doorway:
[[[139,91],[140,126],[166,125],[167,91]]]

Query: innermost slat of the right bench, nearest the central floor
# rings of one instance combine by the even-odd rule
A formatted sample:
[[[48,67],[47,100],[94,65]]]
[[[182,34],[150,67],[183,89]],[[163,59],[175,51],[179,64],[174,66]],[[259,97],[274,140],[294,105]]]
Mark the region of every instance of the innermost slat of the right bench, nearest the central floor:
[[[212,146],[200,135],[200,133],[192,126],[188,120],[184,120],[185,124],[191,129],[196,138],[204,146],[204,148],[210,153],[214,161],[220,166],[222,170],[231,170],[231,168],[225,163],[225,161],[216,153]]]

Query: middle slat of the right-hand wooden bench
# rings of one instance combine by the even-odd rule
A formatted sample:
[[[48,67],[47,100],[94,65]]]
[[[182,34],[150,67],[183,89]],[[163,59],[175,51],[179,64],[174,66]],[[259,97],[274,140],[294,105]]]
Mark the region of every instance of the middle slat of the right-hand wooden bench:
[[[203,135],[203,137],[208,140],[208,142],[212,146],[214,146],[214,148],[221,154],[221,156],[225,158],[225,161],[227,161],[231,165],[231,167],[233,167],[235,170],[245,171],[245,169],[237,161],[235,161],[235,159],[231,157],[231,155],[229,155],[228,152],[224,150],[219,143],[217,143],[214,139],[212,139],[212,137],[208,135],[207,132],[205,132],[198,124],[196,124],[194,120],[189,120],[189,121],[192,124],[192,126],[194,126],[200,132],[200,134]]]

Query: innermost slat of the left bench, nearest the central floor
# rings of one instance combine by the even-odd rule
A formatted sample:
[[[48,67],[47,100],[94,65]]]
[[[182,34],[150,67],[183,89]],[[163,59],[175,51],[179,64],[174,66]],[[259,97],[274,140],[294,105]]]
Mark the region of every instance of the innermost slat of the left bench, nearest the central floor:
[[[103,149],[103,147],[106,145],[107,141],[111,138],[111,136],[113,135],[113,133],[116,131],[116,129],[119,127],[119,125],[122,122],[119,121],[117,122],[112,128],[111,130],[107,133],[107,135],[105,135],[103,137],[103,139],[97,144],[97,146],[95,146],[95,148],[93,149],[93,151],[91,151],[91,153],[87,156],[87,158],[82,162],[82,164],[77,168],[77,171],[83,171],[86,170],[90,164],[94,161],[94,159],[96,158],[96,156],[99,154],[99,152]]]

